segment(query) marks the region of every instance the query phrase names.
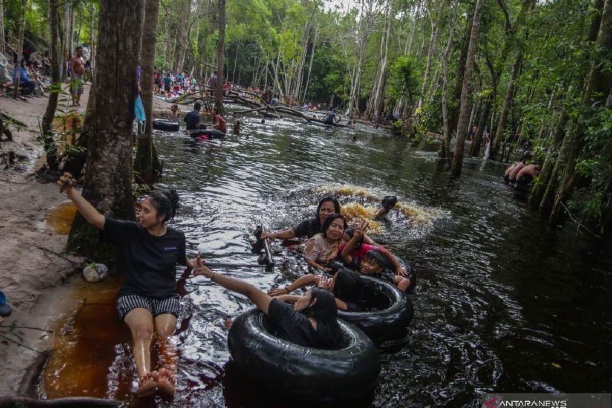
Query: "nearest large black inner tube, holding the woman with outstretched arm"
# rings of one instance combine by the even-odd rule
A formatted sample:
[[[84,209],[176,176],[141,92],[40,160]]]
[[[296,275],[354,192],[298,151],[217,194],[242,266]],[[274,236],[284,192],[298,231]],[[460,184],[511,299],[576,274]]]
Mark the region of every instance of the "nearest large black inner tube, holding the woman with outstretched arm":
[[[266,315],[252,309],[234,320],[228,346],[244,373],[274,393],[313,402],[345,401],[375,386],[380,357],[365,333],[338,323],[346,333],[345,347],[313,349],[272,335]]]

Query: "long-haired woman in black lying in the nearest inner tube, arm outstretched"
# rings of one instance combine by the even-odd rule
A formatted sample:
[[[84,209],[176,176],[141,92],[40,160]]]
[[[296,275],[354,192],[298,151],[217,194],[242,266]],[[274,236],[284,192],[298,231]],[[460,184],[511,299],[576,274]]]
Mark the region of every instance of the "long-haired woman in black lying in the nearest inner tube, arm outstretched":
[[[198,257],[194,276],[203,275],[230,291],[245,295],[267,315],[275,335],[304,347],[340,349],[343,332],[338,325],[334,295],[326,289],[313,287],[295,298],[295,305],[280,302],[245,281],[212,272]]]

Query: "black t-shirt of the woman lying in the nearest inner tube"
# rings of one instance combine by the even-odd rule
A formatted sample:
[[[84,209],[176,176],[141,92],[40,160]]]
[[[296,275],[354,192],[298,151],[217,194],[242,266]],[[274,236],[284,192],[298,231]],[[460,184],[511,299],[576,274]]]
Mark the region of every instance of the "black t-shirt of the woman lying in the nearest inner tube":
[[[316,330],[308,317],[296,311],[293,306],[272,299],[267,316],[277,337],[300,346],[317,348]]]

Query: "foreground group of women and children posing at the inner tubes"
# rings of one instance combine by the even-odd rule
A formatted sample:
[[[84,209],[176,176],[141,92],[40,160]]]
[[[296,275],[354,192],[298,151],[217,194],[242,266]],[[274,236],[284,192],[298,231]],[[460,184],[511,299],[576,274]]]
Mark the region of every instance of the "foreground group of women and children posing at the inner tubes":
[[[402,291],[410,291],[416,284],[414,273],[366,234],[367,221],[348,228],[334,198],[321,199],[315,217],[295,228],[263,232],[261,238],[269,240],[308,237],[304,258],[321,272],[266,293],[245,281],[213,272],[200,254],[187,258],[185,234],[166,225],[179,207],[176,191],[154,191],[145,196],[136,220],[127,221],[102,215],[74,188],[76,180],[69,173],[60,177],[58,185],[88,223],[101,230],[101,239],[116,245],[122,254],[120,267],[125,278],[116,307],[132,335],[140,396],[175,393],[178,353],[168,337],[176,330],[179,317],[176,264],[192,269],[193,276],[205,276],[212,283],[247,296],[267,315],[279,338],[320,349],[341,347],[343,332],[337,310],[362,307],[360,275],[388,280]],[[383,217],[396,203],[394,196],[384,198],[376,218]],[[308,284],[314,286],[302,295],[291,295]],[[157,364],[151,361],[153,346],[161,357]]]

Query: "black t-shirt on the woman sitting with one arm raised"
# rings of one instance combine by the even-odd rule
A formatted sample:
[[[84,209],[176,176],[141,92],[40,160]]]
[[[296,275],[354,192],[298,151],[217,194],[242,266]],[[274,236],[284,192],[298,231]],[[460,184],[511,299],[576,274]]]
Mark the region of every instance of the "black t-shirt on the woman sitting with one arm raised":
[[[100,238],[121,250],[125,280],[120,295],[160,299],[176,294],[176,264],[187,261],[182,231],[166,228],[155,237],[134,221],[106,217]]]

